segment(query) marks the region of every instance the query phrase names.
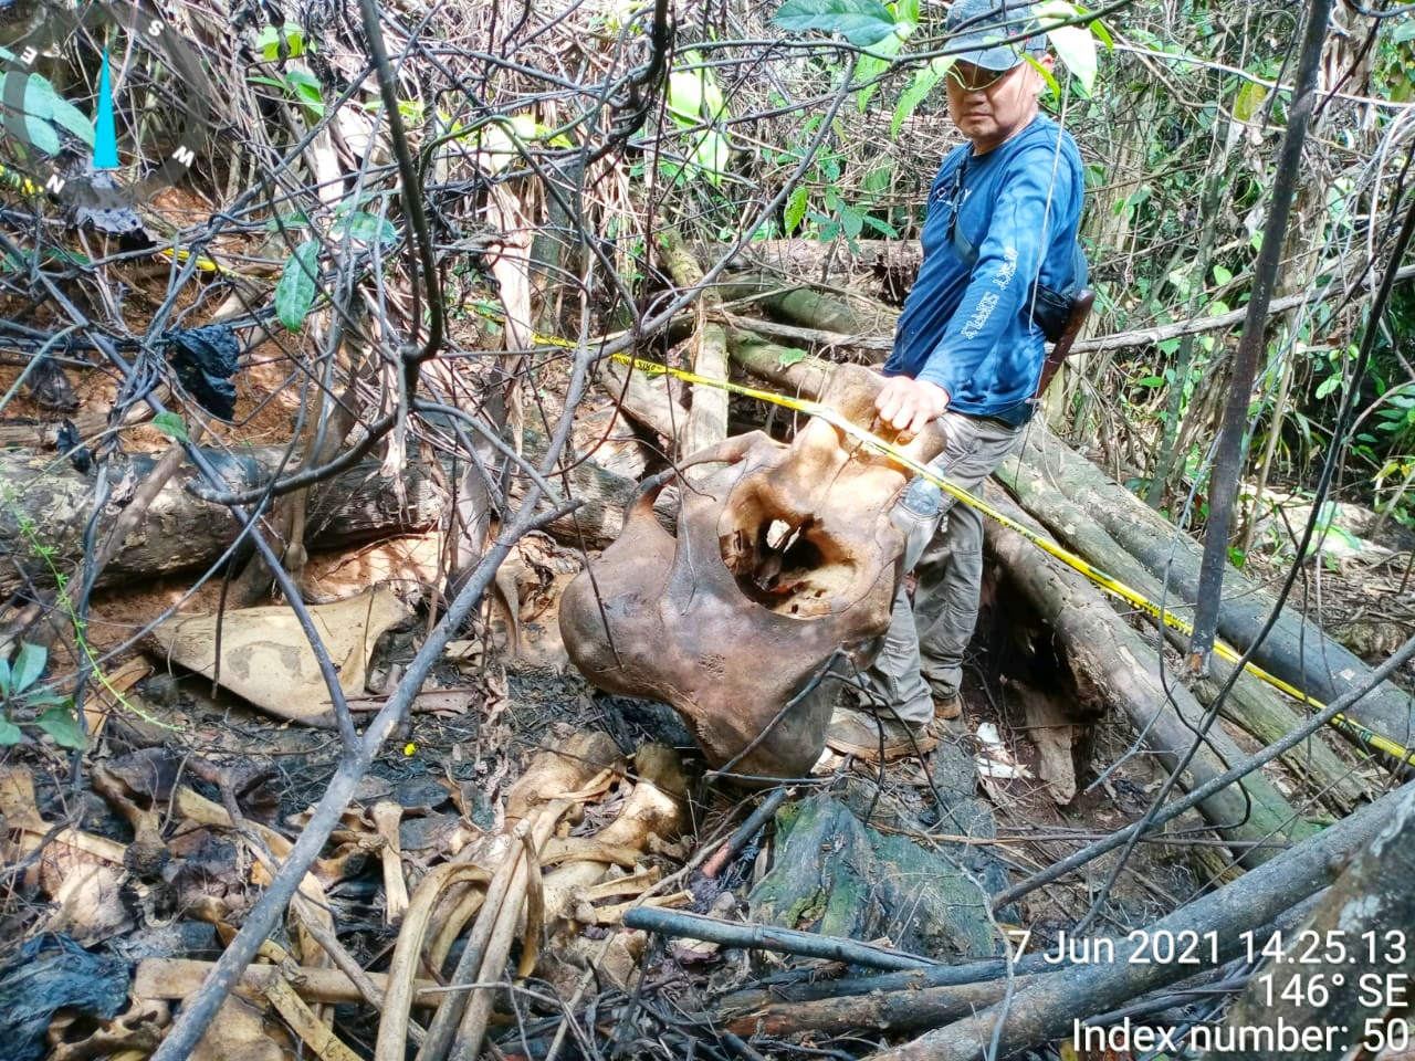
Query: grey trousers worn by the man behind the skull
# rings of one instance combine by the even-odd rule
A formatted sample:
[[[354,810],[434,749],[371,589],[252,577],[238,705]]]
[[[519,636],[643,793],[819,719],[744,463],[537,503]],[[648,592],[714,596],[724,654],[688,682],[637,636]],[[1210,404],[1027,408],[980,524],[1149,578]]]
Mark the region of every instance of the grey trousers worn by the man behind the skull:
[[[1020,427],[962,413],[944,413],[940,424],[948,443],[934,464],[969,492],[982,487],[1022,436]],[[918,726],[934,717],[930,683],[942,693],[957,692],[962,682],[964,649],[978,624],[982,590],[982,516],[947,492],[931,519],[906,514],[900,521],[901,514],[896,508],[908,536],[906,564],[914,560],[914,607],[900,586],[884,647],[865,678],[901,720]]]

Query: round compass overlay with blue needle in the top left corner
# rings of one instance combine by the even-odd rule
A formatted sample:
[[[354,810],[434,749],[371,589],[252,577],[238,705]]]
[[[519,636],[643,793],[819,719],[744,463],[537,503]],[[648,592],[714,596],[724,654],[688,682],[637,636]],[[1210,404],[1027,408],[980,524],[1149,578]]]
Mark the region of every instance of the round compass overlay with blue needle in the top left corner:
[[[0,37],[0,147],[7,167],[68,207],[115,209],[175,184],[209,134],[209,82],[192,45],[154,8],[136,0],[89,0],[78,8],[47,4],[13,42]],[[74,55],[91,62],[98,85],[93,143],[51,133],[37,143],[35,123],[72,110],[45,76]],[[91,92],[92,89],[83,89]],[[72,130],[72,120],[54,120]],[[151,143],[139,141],[142,137]],[[10,143],[4,143],[8,140]]]

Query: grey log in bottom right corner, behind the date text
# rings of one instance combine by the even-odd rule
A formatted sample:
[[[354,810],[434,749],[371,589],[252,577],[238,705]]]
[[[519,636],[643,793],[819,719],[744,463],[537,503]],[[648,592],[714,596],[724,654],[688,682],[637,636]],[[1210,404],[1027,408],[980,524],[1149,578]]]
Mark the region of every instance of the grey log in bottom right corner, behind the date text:
[[[1245,953],[1249,939],[1261,951],[1264,938],[1245,938],[1244,934],[1255,934],[1289,907],[1327,887],[1346,860],[1371,843],[1408,795],[1409,785],[1390,792],[1234,883],[1180,907],[1143,932],[1116,939],[1114,955],[1108,953],[1107,961],[1077,963],[1019,986],[1006,1013],[1000,1006],[990,1006],[911,1043],[870,1054],[869,1061],[972,1061],[988,1048],[999,1019],[998,1057],[1005,1057],[1024,1045],[1071,1034],[1075,1020],[1230,962]],[[1194,932],[1206,941],[1203,953],[1196,955],[1197,963],[1143,961],[1140,948],[1157,938],[1179,939],[1182,932]]]

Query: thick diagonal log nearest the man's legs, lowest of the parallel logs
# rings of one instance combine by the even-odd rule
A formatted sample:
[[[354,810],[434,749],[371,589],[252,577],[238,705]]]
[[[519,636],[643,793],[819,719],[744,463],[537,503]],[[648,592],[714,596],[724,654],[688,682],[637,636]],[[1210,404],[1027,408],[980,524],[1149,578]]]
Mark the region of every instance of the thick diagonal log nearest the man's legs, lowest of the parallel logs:
[[[996,487],[989,487],[988,502],[1019,523],[1032,523]],[[1193,693],[1162,680],[1155,649],[1116,620],[1094,583],[1060,564],[1036,563],[1032,543],[995,521],[986,522],[983,535],[1007,577],[1056,632],[1078,683],[1098,690],[1098,699],[1125,712],[1165,768],[1176,770],[1197,740],[1204,714]],[[1193,779],[1190,787],[1218,777],[1240,758],[1242,750],[1232,737],[1217,724],[1210,727],[1204,746],[1184,770]],[[1295,842],[1315,832],[1266,777],[1249,774],[1241,785],[1215,792],[1199,809],[1224,837],[1257,842],[1251,847],[1237,846],[1235,856],[1242,864],[1251,867],[1272,859],[1276,852],[1266,843],[1274,839]]]

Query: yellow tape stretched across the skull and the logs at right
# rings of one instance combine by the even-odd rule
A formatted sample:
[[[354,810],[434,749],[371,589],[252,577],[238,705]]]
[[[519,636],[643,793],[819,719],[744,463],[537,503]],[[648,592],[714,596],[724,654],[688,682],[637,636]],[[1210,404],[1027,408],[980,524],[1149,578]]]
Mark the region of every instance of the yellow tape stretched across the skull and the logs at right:
[[[702,386],[712,386],[712,388],[717,388],[720,390],[727,390],[727,392],[734,393],[734,395],[741,395],[743,398],[756,398],[756,399],[760,399],[763,402],[771,402],[773,405],[780,405],[780,406],[784,406],[787,409],[792,409],[795,412],[805,413],[808,416],[818,416],[822,420],[825,420],[828,424],[831,424],[832,427],[843,431],[845,434],[850,436],[852,439],[859,440],[865,446],[869,446],[872,450],[876,450],[879,453],[887,454],[893,460],[899,461],[903,467],[906,467],[910,471],[913,471],[916,475],[923,475],[925,480],[928,480],[930,482],[932,482],[934,485],[937,485],[940,489],[947,491],[948,494],[951,494],[952,497],[955,497],[962,504],[965,504],[965,505],[968,505],[971,508],[978,509],[979,512],[982,512],[989,519],[996,519],[999,523],[1002,523],[1009,530],[1016,530],[1019,535],[1022,535],[1023,538],[1026,538],[1034,546],[1037,546],[1039,549],[1041,549],[1046,553],[1050,553],[1051,556],[1054,556],[1056,559],[1058,559],[1061,563],[1067,564],[1067,567],[1071,567],[1071,569],[1080,572],[1081,574],[1084,574],[1087,579],[1090,579],[1091,581],[1094,581],[1097,586],[1099,586],[1107,593],[1111,593],[1111,594],[1119,597],[1121,600],[1126,601],[1128,604],[1135,605],[1136,608],[1139,608],[1140,611],[1143,611],[1146,615],[1150,615],[1152,618],[1159,620],[1159,622],[1162,622],[1163,625],[1169,627],[1170,630],[1177,630],[1179,632],[1184,634],[1186,637],[1189,637],[1189,635],[1191,635],[1194,632],[1194,627],[1191,624],[1186,622],[1184,620],[1182,620],[1179,615],[1174,615],[1174,614],[1172,614],[1169,611],[1160,610],[1160,607],[1157,604],[1155,604],[1153,601],[1150,601],[1146,597],[1140,596],[1139,593],[1136,593],[1135,590],[1132,590],[1125,583],[1119,581],[1118,579],[1111,577],[1109,574],[1107,574],[1105,572],[1102,572],[1099,567],[1097,567],[1092,563],[1084,560],[1082,557],[1077,556],[1075,553],[1067,552],[1065,549],[1063,549],[1061,546],[1056,545],[1054,542],[1049,542],[1047,539],[1044,539],[1041,535],[1036,533],[1030,528],[1023,526],[1022,523],[1019,523],[1016,519],[1012,519],[1010,516],[1003,515],[1002,512],[999,512],[998,509],[995,509],[992,505],[989,505],[986,501],[983,501],[982,498],[976,497],[975,494],[969,494],[962,487],[951,482],[948,478],[945,478],[944,475],[940,475],[937,471],[934,471],[927,464],[920,464],[918,461],[916,461],[913,457],[910,457],[908,454],[906,454],[903,450],[900,450],[893,443],[887,443],[883,439],[880,439],[877,434],[873,434],[872,431],[867,431],[863,427],[859,427],[857,424],[850,423],[849,420],[846,420],[843,416],[841,416],[839,413],[836,413],[829,406],[821,405],[819,402],[812,402],[812,400],[805,399],[805,398],[791,398],[788,395],[778,395],[778,393],[774,393],[771,390],[760,390],[760,389],[751,388],[751,386],[741,386],[740,383],[732,383],[732,382],[727,382],[724,379],[710,379],[708,376],[699,376],[695,372],[685,372],[682,369],[669,368],[666,365],[658,365],[658,364],[655,364],[652,361],[641,361],[640,358],[633,358],[628,354],[611,354],[610,356],[614,361],[618,361],[618,362],[621,362],[624,365],[628,365],[630,368],[637,368],[641,372],[647,372],[649,375],[669,375],[669,376],[674,376],[675,379],[682,379],[683,382],[688,382],[688,383],[698,383],[698,385],[702,385]],[[1240,659],[1241,659],[1241,656],[1240,656],[1240,654],[1237,651],[1234,651],[1232,648],[1230,648],[1228,645],[1225,645],[1221,641],[1215,641],[1214,642],[1214,652],[1217,652],[1221,659],[1227,659],[1230,663],[1238,663]],[[1316,699],[1307,696],[1300,689],[1298,689],[1296,686],[1293,686],[1289,682],[1282,680],[1276,675],[1268,673],[1266,671],[1264,671],[1257,663],[1252,663],[1252,662],[1244,663],[1244,669],[1248,673],[1254,675],[1255,678],[1266,682],[1274,689],[1276,689],[1276,690],[1279,690],[1282,693],[1286,693],[1288,696],[1293,697],[1295,700],[1299,700],[1300,703],[1309,705],[1310,707],[1313,707],[1317,712],[1326,709],[1326,705],[1322,703],[1320,700],[1316,700]],[[1358,723],[1356,719],[1351,719],[1350,716],[1337,713],[1337,714],[1334,714],[1332,717],[1330,724],[1334,729],[1341,730],[1346,734],[1350,734],[1351,737],[1354,737],[1356,740],[1358,740],[1361,744],[1365,744],[1367,747],[1375,748],[1377,751],[1382,751],[1387,755],[1391,755],[1392,758],[1397,758],[1397,760],[1399,760],[1404,764],[1415,765],[1415,751],[1411,751],[1409,748],[1404,747],[1398,741],[1394,741],[1394,740],[1391,740],[1390,737],[1387,737],[1384,734],[1375,733],[1374,730],[1368,729],[1367,726],[1363,726],[1361,723]]]

